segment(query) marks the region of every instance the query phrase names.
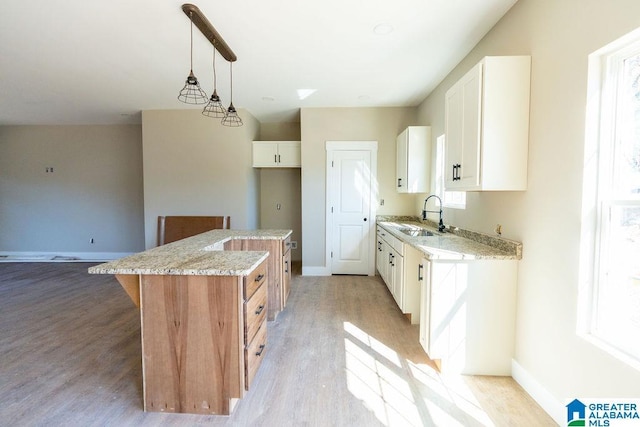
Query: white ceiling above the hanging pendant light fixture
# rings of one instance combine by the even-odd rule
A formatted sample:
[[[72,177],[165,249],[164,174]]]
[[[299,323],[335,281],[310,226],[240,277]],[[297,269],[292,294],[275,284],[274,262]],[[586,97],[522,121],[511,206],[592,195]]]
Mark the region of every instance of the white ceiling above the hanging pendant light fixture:
[[[238,57],[233,103],[262,122],[301,107],[415,106],[516,0],[195,0]],[[189,74],[189,19],[176,0],[4,1],[0,125],[139,123]],[[377,35],[378,24],[393,31]],[[213,87],[194,27],[193,70]],[[217,57],[229,103],[229,66]],[[302,91],[302,92],[301,92]],[[303,97],[300,94],[312,92]],[[301,99],[303,98],[303,99]]]

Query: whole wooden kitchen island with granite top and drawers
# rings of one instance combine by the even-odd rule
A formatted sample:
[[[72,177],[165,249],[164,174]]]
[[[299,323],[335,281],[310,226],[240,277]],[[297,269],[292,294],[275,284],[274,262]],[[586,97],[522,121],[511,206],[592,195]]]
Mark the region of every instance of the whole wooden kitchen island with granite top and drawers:
[[[274,278],[290,274],[275,271],[289,267],[290,235],[212,230],[89,269],[114,274],[140,307],[145,411],[233,411],[266,351],[268,299],[286,304]],[[275,250],[233,250],[244,247]]]

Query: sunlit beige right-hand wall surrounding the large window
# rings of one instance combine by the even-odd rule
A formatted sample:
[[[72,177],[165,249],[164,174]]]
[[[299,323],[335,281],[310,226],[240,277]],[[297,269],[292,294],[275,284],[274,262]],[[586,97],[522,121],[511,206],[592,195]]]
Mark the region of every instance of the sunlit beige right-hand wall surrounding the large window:
[[[465,71],[485,55],[532,56],[528,190],[467,193],[466,210],[444,215],[485,233],[500,223],[523,242],[514,376],[559,423],[566,399],[640,396],[638,370],[576,334],[587,56],[638,27],[638,16],[636,0],[520,0],[418,113],[438,136],[444,93]]]

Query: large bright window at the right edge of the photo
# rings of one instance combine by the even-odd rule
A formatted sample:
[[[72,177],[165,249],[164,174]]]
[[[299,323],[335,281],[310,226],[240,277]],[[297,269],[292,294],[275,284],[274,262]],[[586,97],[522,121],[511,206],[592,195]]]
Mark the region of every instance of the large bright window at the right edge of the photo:
[[[596,52],[595,262],[587,332],[640,361],[640,38]],[[593,69],[596,68],[596,70]],[[594,72],[595,71],[595,72]],[[592,89],[592,90],[594,90]],[[589,120],[588,120],[589,121]],[[587,144],[588,146],[589,144]],[[587,154],[589,149],[587,147]],[[585,174],[585,178],[587,175]],[[586,188],[586,187],[585,187]],[[583,236],[585,236],[583,234]]]

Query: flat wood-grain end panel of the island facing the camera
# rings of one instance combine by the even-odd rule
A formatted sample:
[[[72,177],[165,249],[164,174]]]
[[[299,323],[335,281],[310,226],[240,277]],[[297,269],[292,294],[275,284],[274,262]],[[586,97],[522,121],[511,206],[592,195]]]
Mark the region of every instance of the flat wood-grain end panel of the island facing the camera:
[[[142,276],[145,411],[231,413],[244,395],[242,278]]]

